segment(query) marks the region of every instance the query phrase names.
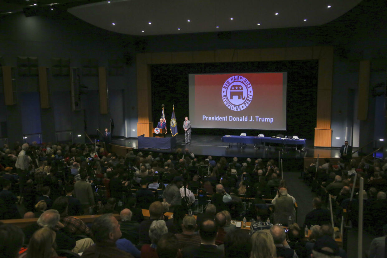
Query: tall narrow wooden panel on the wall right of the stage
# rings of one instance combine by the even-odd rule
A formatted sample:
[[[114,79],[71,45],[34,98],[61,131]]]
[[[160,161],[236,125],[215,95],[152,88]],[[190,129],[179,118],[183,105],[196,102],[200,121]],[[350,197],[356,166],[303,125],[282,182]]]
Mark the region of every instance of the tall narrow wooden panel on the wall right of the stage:
[[[360,61],[358,86],[358,120],[366,120],[368,113],[368,89],[370,87],[370,60]]]

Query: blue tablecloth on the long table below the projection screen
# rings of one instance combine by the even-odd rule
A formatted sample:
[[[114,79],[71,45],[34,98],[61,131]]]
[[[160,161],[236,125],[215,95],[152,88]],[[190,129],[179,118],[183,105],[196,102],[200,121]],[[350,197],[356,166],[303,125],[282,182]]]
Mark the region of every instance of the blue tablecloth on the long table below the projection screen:
[[[305,139],[281,139],[271,137],[257,137],[257,136],[239,136],[239,135],[224,135],[222,142],[235,142],[240,144],[282,144],[282,145],[305,145]]]

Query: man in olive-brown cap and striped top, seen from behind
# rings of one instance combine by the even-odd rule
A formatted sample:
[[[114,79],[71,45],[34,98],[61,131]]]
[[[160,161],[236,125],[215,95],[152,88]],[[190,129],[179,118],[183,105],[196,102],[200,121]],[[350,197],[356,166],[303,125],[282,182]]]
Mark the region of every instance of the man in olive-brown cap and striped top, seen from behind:
[[[175,234],[179,241],[179,248],[187,246],[200,246],[200,236],[195,233],[196,219],[194,216],[187,215],[183,218],[182,234]]]

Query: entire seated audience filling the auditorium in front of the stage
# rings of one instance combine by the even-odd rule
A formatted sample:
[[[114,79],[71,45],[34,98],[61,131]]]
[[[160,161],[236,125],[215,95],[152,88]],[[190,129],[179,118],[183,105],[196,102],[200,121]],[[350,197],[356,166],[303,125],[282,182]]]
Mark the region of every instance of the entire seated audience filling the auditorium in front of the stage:
[[[35,158],[29,158],[28,155],[31,155],[29,150],[33,153],[36,150],[36,155],[38,155],[36,160],[39,161],[39,166],[34,173],[29,171],[29,167],[24,166],[31,160],[35,160]],[[24,228],[26,241],[27,243],[32,241],[33,236],[54,239],[44,243],[45,248],[43,249],[48,252],[52,251],[55,245],[58,248],[82,251],[92,244],[91,239],[76,241],[74,234],[91,237],[95,230],[99,230],[96,226],[98,223],[93,224],[90,230],[82,220],[72,216],[87,215],[98,211],[100,213],[121,211],[121,221],[118,226],[113,216],[103,215],[107,218],[106,220],[110,220],[107,223],[110,226],[105,226],[105,229],[100,227],[101,230],[104,230],[100,234],[103,235],[104,240],[99,238],[99,243],[96,240],[94,249],[91,246],[89,251],[99,253],[101,257],[111,257],[116,250],[125,253],[118,252],[118,257],[131,257],[131,255],[134,257],[181,257],[182,253],[187,257],[195,255],[203,257],[223,257],[223,255],[226,257],[276,257],[278,255],[285,258],[296,257],[296,253],[300,257],[305,257],[309,253],[313,253],[313,257],[336,255],[335,248],[329,247],[329,239],[325,239],[323,244],[327,246],[315,248],[315,243],[320,241],[321,236],[331,237],[333,231],[332,227],[324,225],[330,222],[329,211],[322,208],[322,202],[327,200],[324,186],[326,186],[325,190],[337,196],[333,210],[334,215],[340,215],[340,210],[337,210],[339,206],[336,203],[341,204],[347,201],[354,184],[353,175],[356,173],[366,179],[365,190],[369,190],[370,193],[370,200],[365,205],[365,212],[368,212],[368,217],[365,213],[365,219],[370,220],[368,223],[372,228],[385,224],[385,216],[375,214],[375,212],[378,213],[378,210],[386,207],[384,202],[386,195],[383,191],[387,189],[384,171],[387,163],[375,162],[374,166],[367,167],[363,160],[359,165],[356,161],[351,160],[350,164],[341,162],[342,164],[332,166],[330,161],[326,161],[322,167],[318,167],[318,173],[315,173],[316,167],[312,164],[313,166],[307,169],[306,176],[303,178],[308,182],[313,181],[313,190],[317,190],[317,194],[322,198],[313,199],[313,210],[305,218],[304,226],[315,226],[311,228],[310,242],[304,243],[303,229],[300,229],[297,224],[291,224],[295,222],[295,198],[288,194],[286,182],[281,178],[281,173],[272,160],[267,162],[266,166],[260,159],[238,161],[238,158],[212,159],[209,157],[204,160],[204,157],[190,155],[189,150],[180,150],[168,155],[151,152],[149,154],[144,152],[146,154],[144,155],[138,152],[136,155],[132,153],[122,157],[113,152],[105,152],[102,148],[94,149],[84,144],[42,144],[41,146],[33,144],[23,145],[22,148],[16,145],[11,150],[9,146],[4,146],[2,151],[5,153],[0,153],[0,171],[4,171],[3,191],[0,193],[0,219],[16,218],[20,217],[20,214],[24,214],[24,218],[39,217],[36,224],[33,223]],[[89,158],[91,152],[94,155]],[[206,167],[210,174],[206,178],[199,177],[196,172],[193,172],[197,171],[201,165],[210,166],[209,169]],[[18,169],[20,178],[12,174],[12,167]],[[343,169],[345,167],[346,169]],[[381,169],[382,167],[384,170]],[[157,175],[155,171],[158,171]],[[137,181],[136,178],[131,178],[131,175],[136,174]],[[353,175],[348,177],[348,174]],[[367,178],[370,179],[367,180]],[[6,179],[12,180],[13,183],[9,184]],[[218,182],[220,183],[217,184]],[[22,185],[22,188],[15,191],[13,188],[15,183]],[[170,184],[167,185],[168,183]],[[160,189],[160,186],[164,188],[164,184],[167,185],[166,189]],[[188,187],[184,188],[183,185]],[[205,187],[207,193],[212,194],[214,189],[216,193],[210,197],[211,204],[207,205],[205,212],[197,214],[197,220],[195,220],[193,216],[186,215],[188,211],[181,209],[180,204],[185,204],[182,202],[185,196],[188,196],[189,202],[194,204],[196,200],[193,194],[196,194],[198,189],[200,193],[203,193],[202,186]],[[233,188],[235,186],[238,188]],[[355,187],[358,187],[358,181]],[[159,196],[147,188],[164,191],[166,209],[160,202],[154,202]],[[278,188],[279,191],[274,197],[274,191]],[[19,199],[16,198],[16,195],[19,194],[15,193],[22,193],[21,202],[18,202]],[[246,211],[247,213],[244,213],[245,210],[242,210],[244,198],[252,193],[254,195],[257,193],[257,195],[251,201],[252,207]],[[134,195],[137,198],[133,197]],[[110,198],[111,196],[115,198]],[[288,241],[284,238],[283,229],[280,226],[273,226],[267,220],[269,212],[265,200],[262,199],[265,198],[264,196],[274,197],[272,200],[272,204],[275,205],[274,222],[291,224]],[[351,207],[354,207],[353,210],[356,211],[358,203],[356,194],[354,197]],[[205,195],[202,200],[199,198],[199,205],[206,205],[205,199]],[[97,203],[98,205],[95,205]],[[98,207],[103,207],[103,210]],[[53,210],[45,211],[47,208],[53,208]],[[140,208],[149,208],[149,220],[144,220]],[[157,225],[166,219],[164,212],[167,210],[174,214],[173,219],[164,222],[162,228],[169,231],[168,234],[164,234],[166,231],[164,232]],[[289,221],[289,215],[291,221]],[[250,227],[251,237],[241,236],[241,230],[235,230],[236,226],[231,224],[231,220],[242,220],[244,216],[250,221],[255,220]],[[153,222],[156,225],[155,228],[152,227]],[[356,226],[356,223],[354,225]],[[366,220],[365,226],[367,226]],[[46,229],[42,230],[45,227]],[[267,234],[265,229],[270,229],[271,234]],[[196,233],[197,230],[199,234]],[[53,237],[51,232],[56,236]],[[275,244],[276,251],[272,251],[274,244],[270,243]],[[134,244],[148,246],[145,247],[144,253],[140,253]],[[305,252],[305,248],[308,249],[308,252]],[[182,249],[182,253],[179,249]],[[224,254],[218,252],[222,252],[223,249]],[[328,250],[329,254],[320,252],[324,250]],[[85,252],[84,256],[91,257],[92,253]],[[342,249],[339,249],[339,255],[346,257]],[[45,254],[42,253],[40,256],[44,257]],[[50,256],[56,256],[56,254],[52,253]]]

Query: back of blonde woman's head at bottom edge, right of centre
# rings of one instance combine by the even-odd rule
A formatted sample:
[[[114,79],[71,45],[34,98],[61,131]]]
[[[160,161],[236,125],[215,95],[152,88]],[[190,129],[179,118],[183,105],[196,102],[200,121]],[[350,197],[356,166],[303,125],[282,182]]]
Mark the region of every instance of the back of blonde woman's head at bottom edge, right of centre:
[[[276,258],[276,246],[268,229],[255,232],[251,236],[252,249],[250,258]]]

